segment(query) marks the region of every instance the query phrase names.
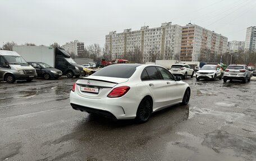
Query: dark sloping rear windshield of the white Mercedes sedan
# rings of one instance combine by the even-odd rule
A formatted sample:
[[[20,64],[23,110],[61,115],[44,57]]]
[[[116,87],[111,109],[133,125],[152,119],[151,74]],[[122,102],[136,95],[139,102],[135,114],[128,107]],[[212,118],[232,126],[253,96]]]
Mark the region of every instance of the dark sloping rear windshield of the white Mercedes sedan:
[[[135,71],[136,68],[131,66],[109,65],[95,72],[93,76],[117,77],[127,79],[131,77]]]

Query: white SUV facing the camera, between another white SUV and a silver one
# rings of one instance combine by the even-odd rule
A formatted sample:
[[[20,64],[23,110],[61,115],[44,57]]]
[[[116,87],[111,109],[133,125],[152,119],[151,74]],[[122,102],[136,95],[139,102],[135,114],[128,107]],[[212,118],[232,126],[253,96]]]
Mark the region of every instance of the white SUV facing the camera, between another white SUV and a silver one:
[[[216,80],[222,79],[223,76],[223,70],[220,65],[204,65],[198,72],[196,72],[196,80],[200,79],[211,79],[211,80]]]

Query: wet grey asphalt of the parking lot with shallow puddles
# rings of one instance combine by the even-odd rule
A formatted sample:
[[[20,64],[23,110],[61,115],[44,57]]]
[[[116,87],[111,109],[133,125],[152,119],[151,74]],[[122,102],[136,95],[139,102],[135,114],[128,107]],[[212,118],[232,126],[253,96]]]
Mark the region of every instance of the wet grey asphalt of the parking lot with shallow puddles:
[[[75,81],[0,82],[0,160],[256,160],[256,81],[184,80],[189,104],[143,124],[75,111]]]

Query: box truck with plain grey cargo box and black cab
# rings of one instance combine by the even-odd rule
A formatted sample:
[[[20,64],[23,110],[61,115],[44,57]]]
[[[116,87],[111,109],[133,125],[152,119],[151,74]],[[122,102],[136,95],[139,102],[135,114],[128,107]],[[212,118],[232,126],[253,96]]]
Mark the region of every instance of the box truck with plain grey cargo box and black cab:
[[[43,62],[62,71],[62,75],[72,78],[83,75],[83,67],[77,65],[63,48],[45,46],[13,46],[13,51],[19,53],[28,62]]]

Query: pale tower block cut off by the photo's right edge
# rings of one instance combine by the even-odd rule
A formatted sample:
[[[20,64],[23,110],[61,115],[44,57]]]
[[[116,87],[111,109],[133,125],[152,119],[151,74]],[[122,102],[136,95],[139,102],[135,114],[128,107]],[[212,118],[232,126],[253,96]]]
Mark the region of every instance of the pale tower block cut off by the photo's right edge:
[[[256,26],[247,28],[244,49],[256,52]]]

